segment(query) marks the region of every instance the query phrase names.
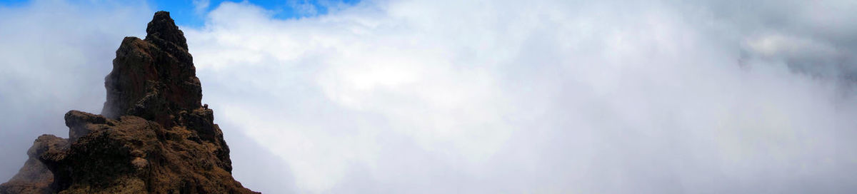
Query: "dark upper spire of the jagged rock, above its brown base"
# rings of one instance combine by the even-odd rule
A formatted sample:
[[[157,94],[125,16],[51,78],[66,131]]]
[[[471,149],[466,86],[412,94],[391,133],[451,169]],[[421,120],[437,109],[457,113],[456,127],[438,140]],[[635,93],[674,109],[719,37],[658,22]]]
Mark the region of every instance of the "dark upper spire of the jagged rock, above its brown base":
[[[184,33],[159,11],[149,22],[145,40],[126,37],[116,51],[113,71],[105,78],[107,118],[141,116],[173,126],[181,111],[201,107],[202,89]]]

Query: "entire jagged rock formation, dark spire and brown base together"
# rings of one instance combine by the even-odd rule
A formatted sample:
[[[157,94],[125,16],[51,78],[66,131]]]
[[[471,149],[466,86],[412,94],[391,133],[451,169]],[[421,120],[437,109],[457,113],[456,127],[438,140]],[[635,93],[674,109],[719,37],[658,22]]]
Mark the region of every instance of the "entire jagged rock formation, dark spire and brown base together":
[[[116,51],[101,115],[69,111],[69,138],[37,138],[0,193],[255,193],[232,178],[183,32],[165,11],[146,32]]]

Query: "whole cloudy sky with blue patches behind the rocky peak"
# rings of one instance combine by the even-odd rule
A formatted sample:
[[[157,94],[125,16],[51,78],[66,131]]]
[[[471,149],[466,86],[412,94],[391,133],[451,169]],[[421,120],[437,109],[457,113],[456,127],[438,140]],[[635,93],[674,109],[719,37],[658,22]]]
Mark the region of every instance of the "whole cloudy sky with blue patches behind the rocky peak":
[[[2,1],[0,179],[167,10],[265,193],[854,193],[854,1]]]

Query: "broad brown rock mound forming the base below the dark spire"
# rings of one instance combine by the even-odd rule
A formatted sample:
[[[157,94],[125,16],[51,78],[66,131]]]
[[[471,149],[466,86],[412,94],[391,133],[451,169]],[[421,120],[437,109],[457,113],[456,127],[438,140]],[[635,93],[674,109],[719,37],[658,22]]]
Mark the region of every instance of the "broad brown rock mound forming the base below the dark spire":
[[[216,143],[187,126],[125,115],[79,138],[65,156],[42,159],[61,193],[252,193],[223,168],[231,165]]]

